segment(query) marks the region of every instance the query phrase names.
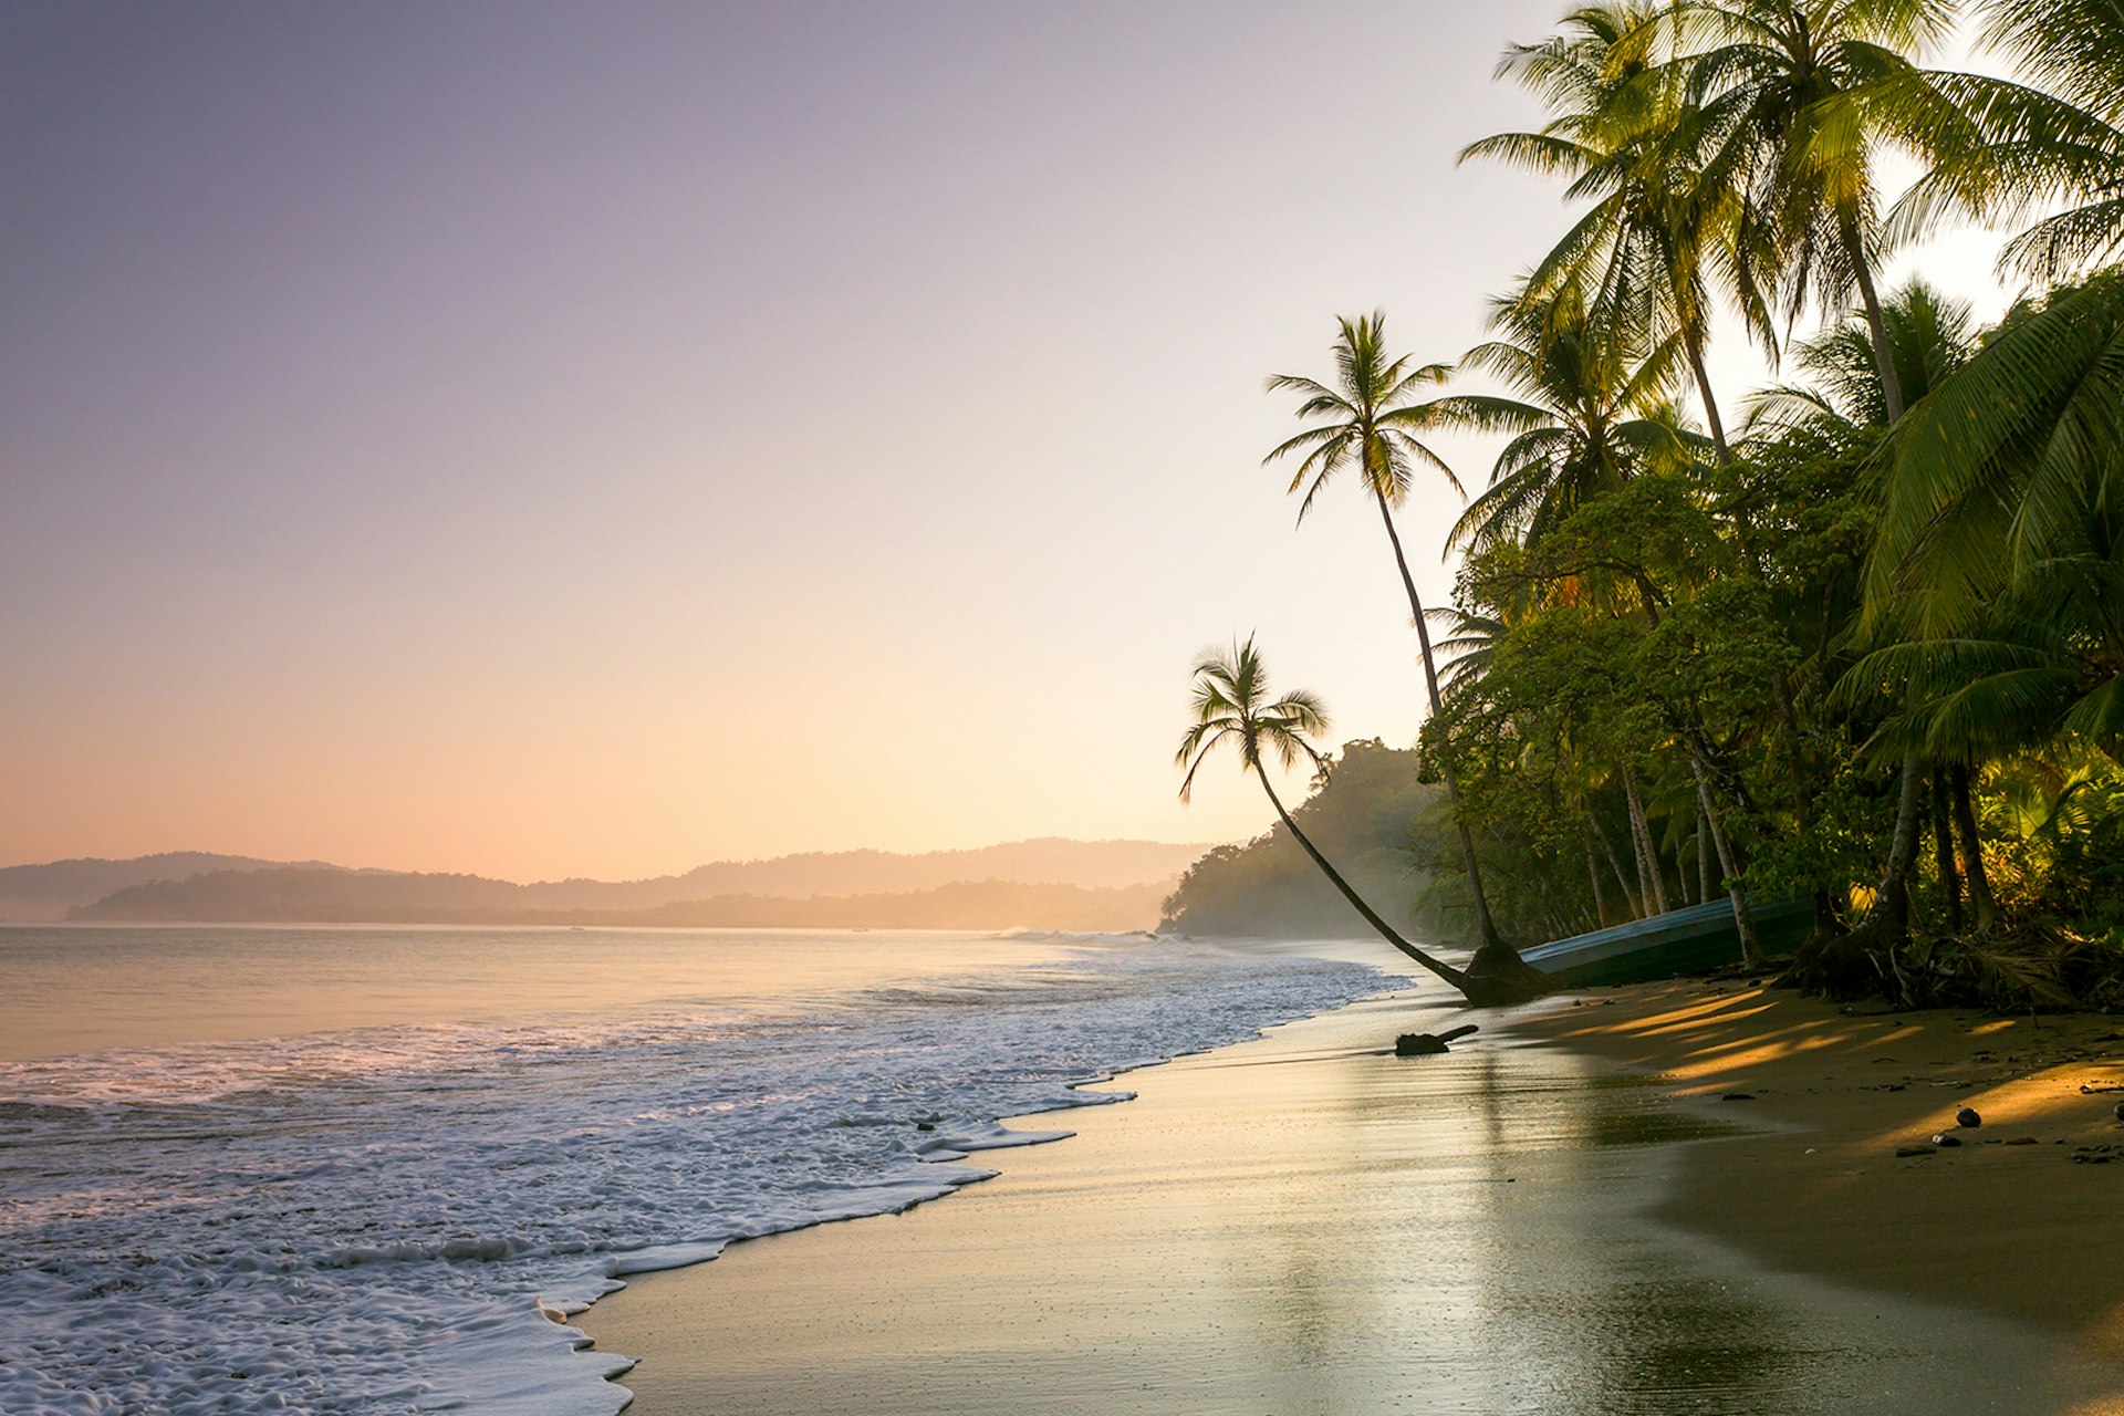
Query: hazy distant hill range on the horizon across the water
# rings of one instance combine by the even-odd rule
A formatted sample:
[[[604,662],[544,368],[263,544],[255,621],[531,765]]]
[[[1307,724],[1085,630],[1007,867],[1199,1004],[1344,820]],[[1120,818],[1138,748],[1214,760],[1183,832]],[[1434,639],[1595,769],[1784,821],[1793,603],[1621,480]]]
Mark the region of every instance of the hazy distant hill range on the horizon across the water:
[[[964,851],[813,851],[639,881],[348,870],[227,856],[0,870],[13,919],[195,923],[665,923],[1149,928],[1204,847],[1013,841]]]

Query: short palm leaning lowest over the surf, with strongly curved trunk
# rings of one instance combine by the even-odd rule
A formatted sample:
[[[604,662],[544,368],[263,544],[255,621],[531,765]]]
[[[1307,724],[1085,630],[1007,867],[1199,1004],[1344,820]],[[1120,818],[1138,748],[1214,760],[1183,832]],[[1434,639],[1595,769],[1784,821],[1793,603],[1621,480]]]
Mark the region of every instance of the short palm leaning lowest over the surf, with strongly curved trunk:
[[[1546,994],[1553,987],[1548,974],[1527,964],[1519,964],[1519,970],[1510,977],[1500,977],[1495,972],[1463,972],[1432,957],[1402,938],[1342,879],[1342,873],[1328,864],[1328,858],[1321,856],[1319,847],[1313,845],[1306,832],[1298,828],[1298,822],[1291,819],[1291,813],[1285,811],[1283,798],[1277,796],[1277,788],[1264,771],[1268,758],[1274,758],[1283,766],[1291,766],[1300,758],[1315,766],[1323,764],[1311,739],[1325,730],[1328,711],[1313,694],[1300,690],[1274,701],[1268,698],[1268,669],[1262,664],[1262,654],[1253,647],[1251,635],[1245,643],[1234,643],[1230,654],[1204,654],[1202,662],[1194,669],[1194,722],[1187,726],[1181,749],[1172,758],[1175,766],[1187,769],[1187,775],[1181,779],[1181,800],[1194,796],[1194,779],[1204,758],[1230,743],[1238,752],[1240,771],[1253,773],[1262,783],[1262,792],[1268,794],[1268,805],[1277,809],[1277,819],[1283,822],[1283,828],[1291,832],[1291,839],[1313,858],[1313,864],[1321,868],[1321,875],[1328,877],[1342,898],[1364,915],[1364,921],[1378,930],[1381,938],[1457,987],[1476,1006],[1527,1002]],[[1519,955],[1512,957],[1514,962],[1519,960]]]

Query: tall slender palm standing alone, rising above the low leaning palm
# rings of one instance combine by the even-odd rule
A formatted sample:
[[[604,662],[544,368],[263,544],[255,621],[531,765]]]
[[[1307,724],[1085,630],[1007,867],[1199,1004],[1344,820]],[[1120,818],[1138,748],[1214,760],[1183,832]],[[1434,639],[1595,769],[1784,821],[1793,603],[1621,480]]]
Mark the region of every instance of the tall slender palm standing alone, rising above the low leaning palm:
[[[1298,374],[1277,374],[1268,380],[1270,393],[1285,388],[1300,393],[1300,418],[1319,418],[1313,427],[1277,446],[1262,463],[1302,452],[1289,490],[1304,488],[1298,503],[1298,520],[1304,522],[1313,510],[1313,499],[1334,473],[1355,465],[1364,480],[1364,490],[1378,505],[1378,520],[1387,529],[1387,543],[1393,548],[1393,565],[1402,573],[1402,588],[1408,592],[1408,616],[1417,624],[1417,647],[1423,654],[1423,686],[1429,709],[1438,713],[1438,662],[1432,654],[1432,631],[1425,622],[1423,599],[1417,594],[1417,580],[1408,573],[1408,556],[1402,552],[1402,535],[1393,526],[1393,507],[1408,495],[1417,467],[1440,473],[1453,490],[1461,490],[1459,478],[1444,461],[1423,446],[1419,431],[1432,427],[1432,414],[1415,403],[1427,384],[1444,382],[1444,365],[1415,365],[1406,355],[1387,357],[1387,316],[1372,312],[1359,318],[1340,318],[1340,335],[1334,344],[1336,386],[1330,388]],[[1472,974],[1495,974],[1510,981],[1527,966],[1519,951],[1497,934],[1497,921],[1489,913],[1489,896],[1483,892],[1483,868],[1476,862],[1474,836],[1459,809],[1459,777],[1446,754],[1440,754],[1440,777],[1446,783],[1446,798],[1453,807],[1453,826],[1459,832],[1461,864],[1468,870],[1468,896],[1474,900],[1478,947],[1470,962]]]

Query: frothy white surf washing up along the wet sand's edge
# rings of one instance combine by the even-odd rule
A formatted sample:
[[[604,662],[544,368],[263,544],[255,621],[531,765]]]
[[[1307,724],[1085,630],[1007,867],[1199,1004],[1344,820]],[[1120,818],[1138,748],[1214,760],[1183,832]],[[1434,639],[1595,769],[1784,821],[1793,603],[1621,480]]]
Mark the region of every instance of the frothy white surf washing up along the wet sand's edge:
[[[699,1002],[0,1064],[0,1410],[599,1416],[552,1316],[1068,1132],[996,1117],[1381,987],[1102,940],[801,1006]]]

